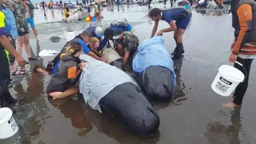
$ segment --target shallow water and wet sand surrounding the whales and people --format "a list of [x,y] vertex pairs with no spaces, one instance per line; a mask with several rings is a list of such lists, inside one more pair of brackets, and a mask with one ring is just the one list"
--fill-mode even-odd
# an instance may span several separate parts
[[[162,4],[155,7],[163,8]],[[146,6],[119,6],[103,8],[105,18],[101,22],[52,23],[62,19],[61,11],[54,10],[54,18],[47,11],[47,20],[40,10],[35,10],[35,23],[41,39],[37,42],[31,32],[31,48],[37,55],[40,50],[60,50],[66,43],[67,28],[76,34],[90,24],[106,28],[118,18],[126,18],[134,33],[142,41],[150,37],[154,26],[147,15]],[[210,84],[217,74],[220,63],[228,61],[233,41],[231,15],[226,11],[195,11],[184,35],[185,54],[174,61],[177,75],[175,98],[169,102],[153,102],[161,124],[155,135],[135,136],[113,121],[108,115],[92,110],[81,96],[58,99],[50,103],[45,93],[51,75],[41,75],[26,65],[24,76],[12,76],[10,92],[26,99],[16,106],[14,115],[19,133],[0,144],[254,144],[256,141],[256,77],[252,64],[250,82],[242,108],[225,108],[221,104],[232,101],[211,90]],[[160,22],[159,30],[168,24]],[[52,36],[61,37],[53,43]],[[164,33],[169,53],[175,48],[173,33]],[[23,51],[23,56],[27,55]],[[54,57],[39,61],[47,65]],[[225,64],[230,64],[226,62]],[[230,64],[231,65],[231,64]],[[20,136],[20,137],[19,137]]]

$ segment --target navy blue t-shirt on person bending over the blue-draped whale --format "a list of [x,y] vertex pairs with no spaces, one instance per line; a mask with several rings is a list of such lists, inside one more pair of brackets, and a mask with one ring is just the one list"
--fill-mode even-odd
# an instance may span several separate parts
[[164,10],[162,14],[162,20],[170,23],[171,21],[176,21],[180,16],[180,13],[184,11],[184,8],[171,8],[168,10]]

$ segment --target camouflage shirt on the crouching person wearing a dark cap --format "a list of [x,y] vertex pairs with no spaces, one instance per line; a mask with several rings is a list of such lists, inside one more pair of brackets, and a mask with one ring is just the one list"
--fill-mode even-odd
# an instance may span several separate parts
[[119,43],[122,43],[124,45],[125,52],[137,50],[139,46],[139,38],[130,31],[124,31],[123,35],[124,35],[124,38],[122,40],[118,39],[118,41]]

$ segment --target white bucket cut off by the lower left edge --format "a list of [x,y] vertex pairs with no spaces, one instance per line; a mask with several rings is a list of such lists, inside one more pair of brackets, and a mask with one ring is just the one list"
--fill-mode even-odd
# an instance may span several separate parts
[[8,107],[0,108],[0,139],[13,136],[19,130],[12,110]]

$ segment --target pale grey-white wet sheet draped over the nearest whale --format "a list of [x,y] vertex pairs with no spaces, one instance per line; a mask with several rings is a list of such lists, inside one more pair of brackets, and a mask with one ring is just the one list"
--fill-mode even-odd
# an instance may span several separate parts
[[79,79],[80,93],[83,94],[85,102],[95,110],[101,112],[99,101],[117,85],[127,82],[136,84],[129,75],[119,68],[98,61],[86,54],[82,54],[79,58],[89,62]]

